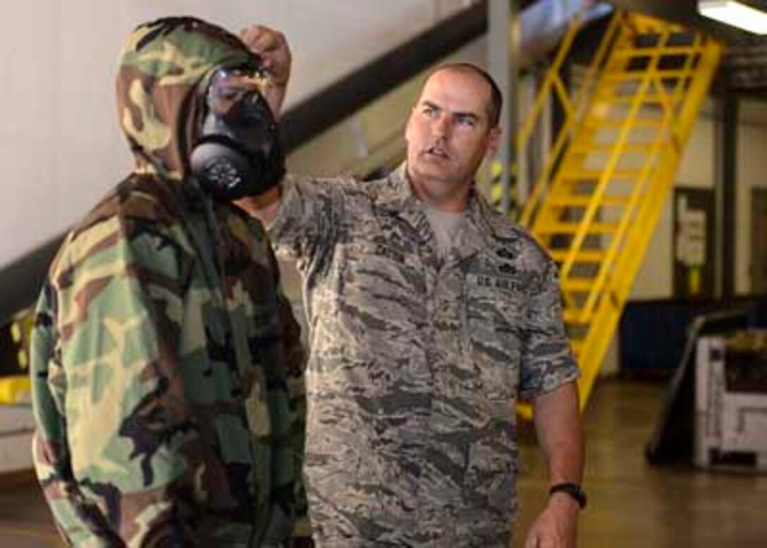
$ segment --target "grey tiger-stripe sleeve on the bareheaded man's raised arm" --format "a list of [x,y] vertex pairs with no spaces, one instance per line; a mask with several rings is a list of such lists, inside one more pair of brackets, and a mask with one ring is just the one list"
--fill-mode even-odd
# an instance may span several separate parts
[[340,179],[288,176],[269,238],[281,258],[302,259],[335,241],[342,196]]

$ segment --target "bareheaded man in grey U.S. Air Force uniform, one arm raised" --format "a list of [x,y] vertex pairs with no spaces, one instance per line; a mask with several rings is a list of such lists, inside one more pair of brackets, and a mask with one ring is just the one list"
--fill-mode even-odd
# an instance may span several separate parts
[[[281,34],[243,36],[287,78]],[[507,546],[519,398],[534,402],[551,484],[581,481],[578,369],[555,265],[473,185],[500,107],[483,71],[443,67],[391,176],[291,178],[243,202],[304,277],[318,546]],[[573,546],[574,499],[552,494],[525,546]]]

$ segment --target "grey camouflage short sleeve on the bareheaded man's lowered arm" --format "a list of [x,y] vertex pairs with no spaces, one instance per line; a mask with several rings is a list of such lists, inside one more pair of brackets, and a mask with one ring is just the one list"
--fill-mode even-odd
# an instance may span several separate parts
[[528,300],[522,340],[519,385],[522,399],[533,400],[578,378],[578,366],[562,321],[557,268],[550,260],[541,284]]

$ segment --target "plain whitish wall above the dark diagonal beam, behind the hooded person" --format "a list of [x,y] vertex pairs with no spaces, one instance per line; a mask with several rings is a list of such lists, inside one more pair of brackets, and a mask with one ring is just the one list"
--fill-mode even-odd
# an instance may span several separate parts
[[294,54],[286,107],[470,2],[29,0],[0,5],[0,267],[64,231],[127,173],[114,74],[124,37],[162,15],[280,28]]

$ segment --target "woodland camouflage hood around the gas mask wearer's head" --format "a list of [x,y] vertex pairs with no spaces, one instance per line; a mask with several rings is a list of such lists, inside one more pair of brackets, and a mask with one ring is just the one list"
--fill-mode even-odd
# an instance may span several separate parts
[[136,28],[120,59],[117,112],[137,172],[185,179],[204,116],[200,84],[221,67],[259,65],[234,34],[199,19],[163,18]]

